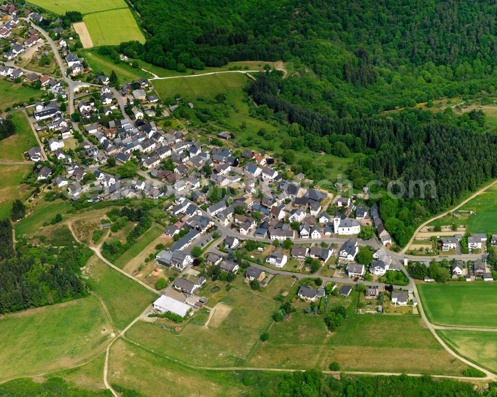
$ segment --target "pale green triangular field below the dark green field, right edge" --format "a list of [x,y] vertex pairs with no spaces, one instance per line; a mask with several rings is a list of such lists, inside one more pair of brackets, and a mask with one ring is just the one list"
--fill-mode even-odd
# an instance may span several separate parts
[[437,333],[460,355],[497,373],[495,332],[438,330]]

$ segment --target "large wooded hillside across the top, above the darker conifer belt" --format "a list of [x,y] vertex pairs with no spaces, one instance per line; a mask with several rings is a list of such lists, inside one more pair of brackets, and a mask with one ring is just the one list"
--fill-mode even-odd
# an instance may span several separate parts
[[293,61],[299,79],[286,79],[282,96],[331,116],[486,96],[496,86],[497,4],[490,0],[134,4],[153,37],[121,45],[127,55],[178,70]]

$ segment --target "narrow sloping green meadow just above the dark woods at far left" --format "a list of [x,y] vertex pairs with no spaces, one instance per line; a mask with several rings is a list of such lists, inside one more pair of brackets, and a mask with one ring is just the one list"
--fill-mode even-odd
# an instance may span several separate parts
[[16,222],[14,225],[15,236],[19,238],[22,235],[36,234],[43,226],[43,223],[50,222],[55,214],[62,214],[71,208],[71,203],[68,201],[53,201],[46,202],[38,200],[33,207],[33,212],[23,220]]

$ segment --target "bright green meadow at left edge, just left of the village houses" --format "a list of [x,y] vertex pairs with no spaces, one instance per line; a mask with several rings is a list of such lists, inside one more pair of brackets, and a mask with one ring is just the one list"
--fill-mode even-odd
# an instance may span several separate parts
[[23,153],[38,146],[38,141],[23,112],[15,112],[12,116],[15,135],[0,141],[0,160],[24,161]]

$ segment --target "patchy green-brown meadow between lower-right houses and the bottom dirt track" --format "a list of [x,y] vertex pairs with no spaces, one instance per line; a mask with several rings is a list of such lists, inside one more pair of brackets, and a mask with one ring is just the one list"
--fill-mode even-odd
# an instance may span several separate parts
[[308,304],[299,303],[300,313],[274,323],[268,341],[253,352],[248,364],[324,370],[337,361],[347,371],[429,374],[461,374],[466,368],[444,351],[419,316],[356,314],[356,299],[355,291],[348,298],[331,298],[328,307],[347,307],[344,324],[333,333],[324,316],[302,314]]

